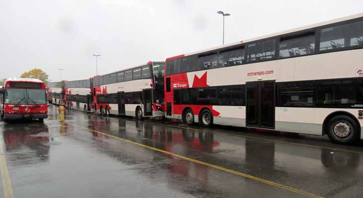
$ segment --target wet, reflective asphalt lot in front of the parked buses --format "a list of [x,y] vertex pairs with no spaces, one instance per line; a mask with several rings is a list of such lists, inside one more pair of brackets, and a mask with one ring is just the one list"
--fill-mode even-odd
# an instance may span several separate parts
[[44,123],[0,121],[15,198],[363,197],[362,145],[78,111],[65,119],[51,106]]

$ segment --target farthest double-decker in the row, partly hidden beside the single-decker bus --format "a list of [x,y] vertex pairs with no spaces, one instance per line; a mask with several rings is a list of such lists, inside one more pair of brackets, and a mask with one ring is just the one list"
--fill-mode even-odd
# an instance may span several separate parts
[[52,103],[56,105],[65,105],[65,87],[66,81],[54,81],[48,82],[48,93],[49,97],[52,98]]

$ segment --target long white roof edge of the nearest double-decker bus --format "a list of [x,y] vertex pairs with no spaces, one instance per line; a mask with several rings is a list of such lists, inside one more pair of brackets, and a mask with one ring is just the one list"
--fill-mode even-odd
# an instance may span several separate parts
[[[260,40],[260,39],[264,39],[264,38],[269,38],[269,37],[274,37],[274,36],[278,36],[278,35],[298,32],[298,31],[302,31],[302,30],[305,30],[305,29],[310,29],[310,28],[314,28],[314,27],[318,27],[318,26],[328,25],[328,24],[331,24],[331,23],[337,23],[337,22],[346,21],[346,20],[350,20],[350,19],[354,19],[354,18],[360,18],[360,17],[363,17],[363,12],[358,13],[358,14],[345,16],[345,17],[332,19],[332,20],[328,20],[328,21],[324,21],[324,22],[314,23],[314,24],[311,24],[311,25],[306,25],[306,26],[303,26],[303,27],[294,28],[294,29],[290,29],[290,30],[286,30],[286,31],[282,31],[282,32],[272,33],[272,34],[268,34],[268,35],[265,35],[265,36],[255,37],[255,38],[243,40],[243,41],[240,41],[240,42],[229,43],[229,44],[226,44],[226,45],[217,46],[217,47],[209,48],[209,49],[206,49],[206,50],[200,50],[200,51],[196,51],[196,52],[193,52],[193,53],[185,54],[184,56],[199,54],[199,53],[203,53],[203,52],[209,52],[209,51],[213,51],[213,50],[217,50],[217,49],[221,49],[221,48],[225,48],[225,47],[235,46],[235,45],[242,44],[242,43],[247,43],[247,42],[256,41],[256,40]],[[173,59],[173,58],[175,58],[175,57],[171,57],[169,59]]]

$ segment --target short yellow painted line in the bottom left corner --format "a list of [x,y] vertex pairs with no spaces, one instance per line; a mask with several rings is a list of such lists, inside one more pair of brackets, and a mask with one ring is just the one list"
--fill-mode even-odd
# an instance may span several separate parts
[[2,188],[4,191],[4,198],[14,198],[9,172],[7,171],[5,153],[2,147],[3,140],[4,137],[2,136],[2,132],[0,132],[0,169],[1,169]]

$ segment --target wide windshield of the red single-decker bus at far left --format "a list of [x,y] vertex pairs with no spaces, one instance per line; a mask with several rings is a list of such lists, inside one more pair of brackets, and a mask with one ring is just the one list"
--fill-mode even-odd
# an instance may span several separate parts
[[46,104],[45,90],[6,89],[5,104]]

